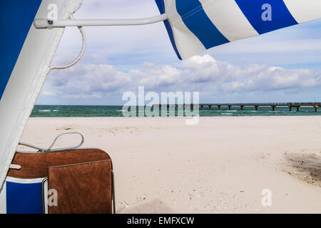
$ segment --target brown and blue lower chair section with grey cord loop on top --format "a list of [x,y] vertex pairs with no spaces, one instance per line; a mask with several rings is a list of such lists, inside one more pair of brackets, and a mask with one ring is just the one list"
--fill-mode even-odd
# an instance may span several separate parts
[[[66,133],[64,133],[66,134]],[[61,135],[58,135],[57,138]],[[17,151],[6,178],[7,213],[115,213],[111,157],[96,148]]]

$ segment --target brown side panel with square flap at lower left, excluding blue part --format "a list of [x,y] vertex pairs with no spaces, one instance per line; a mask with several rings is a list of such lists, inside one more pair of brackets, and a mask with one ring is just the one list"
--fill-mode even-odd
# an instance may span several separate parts
[[48,177],[48,189],[58,196],[57,205],[49,205],[51,214],[113,212],[113,165],[103,150],[16,152],[12,164],[21,169],[9,170],[9,177]]

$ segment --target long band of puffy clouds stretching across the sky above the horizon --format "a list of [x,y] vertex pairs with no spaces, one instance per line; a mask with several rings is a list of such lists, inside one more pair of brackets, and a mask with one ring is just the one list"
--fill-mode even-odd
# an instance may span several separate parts
[[302,88],[321,88],[321,73],[309,69],[285,69],[277,66],[233,66],[216,61],[210,55],[194,56],[170,65],[143,63],[141,68],[118,71],[103,63],[78,63],[49,75],[41,96],[60,98],[104,98],[125,91],[146,90],[200,91],[212,94],[255,93]]

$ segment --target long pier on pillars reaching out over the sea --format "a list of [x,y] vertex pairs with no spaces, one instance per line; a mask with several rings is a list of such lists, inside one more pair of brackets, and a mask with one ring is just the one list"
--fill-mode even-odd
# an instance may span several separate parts
[[[274,111],[275,107],[288,107],[289,111],[292,111],[292,108],[296,108],[297,112],[300,111],[300,107],[313,107],[315,108],[315,112],[317,112],[317,108],[321,107],[321,103],[200,103],[200,104],[184,104],[184,106],[191,106],[192,108],[198,105],[200,108],[204,108],[205,106],[208,106],[208,108],[212,108],[212,106],[217,107],[220,109],[221,107],[228,107],[230,110],[233,106],[240,107],[240,110],[243,110],[244,107],[253,107],[255,110],[258,110],[259,107],[271,107],[271,109]],[[156,105],[153,105],[156,106]],[[157,105],[158,107],[162,107],[163,105]],[[178,107],[182,105],[165,105],[167,108],[170,107]]]

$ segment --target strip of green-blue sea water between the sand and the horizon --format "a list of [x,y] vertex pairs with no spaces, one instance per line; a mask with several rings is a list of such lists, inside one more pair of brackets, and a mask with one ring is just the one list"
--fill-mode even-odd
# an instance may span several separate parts
[[[32,110],[32,117],[123,117],[123,106],[116,105],[35,105]],[[167,109],[168,113],[168,109]],[[142,113],[140,113],[142,114]],[[175,112],[177,115],[177,110]],[[321,108],[315,113],[312,107],[301,107],[297,112],[296,108],[292,108],[290,112],[287,107],[276,107],[272,111],[270,107],[244,107],[240,110],[238,106],[221,107],[220,110],[215,106],[208,108],[205,106],[200,108],[200,116],[255,116],[255,115],[321,115]],[[138,112],[137,112],[138,116]],[[143,116],[143,115],[142,115]]]

